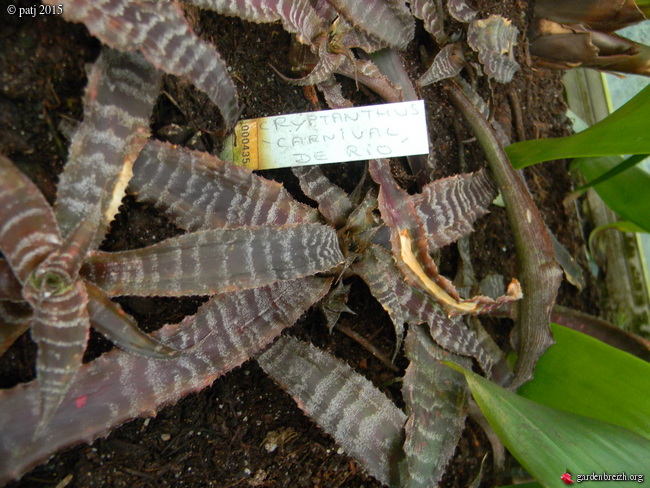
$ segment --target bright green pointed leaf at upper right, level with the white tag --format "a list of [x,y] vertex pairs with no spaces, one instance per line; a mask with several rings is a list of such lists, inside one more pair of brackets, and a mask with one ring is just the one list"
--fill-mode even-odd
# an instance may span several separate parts
[[518,142],[506,148],[512,165],[525,168],[553,159],[650,153],[647,114],[650,86],[589,129],[567,137]]

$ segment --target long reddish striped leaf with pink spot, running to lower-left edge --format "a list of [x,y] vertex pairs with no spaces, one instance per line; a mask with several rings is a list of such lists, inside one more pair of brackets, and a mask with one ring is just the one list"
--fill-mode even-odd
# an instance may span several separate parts
[[217,295],[195,316],[156,333],[164,343],[185,350],[181,356],[152,361],[114,350],[83,365],[36,443],[31,439],[39,380],[0,391],[0,484],[62,447],[91,442],[129,419],[154,415],[209,386],[292,325],[330,285],[331,280],[307,277]]

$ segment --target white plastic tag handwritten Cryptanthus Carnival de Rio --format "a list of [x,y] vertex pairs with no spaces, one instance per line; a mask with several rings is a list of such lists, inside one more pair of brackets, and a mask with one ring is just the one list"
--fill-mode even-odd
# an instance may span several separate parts
[[249,169],[428,154],[424,101],[242,120],[221,159]]

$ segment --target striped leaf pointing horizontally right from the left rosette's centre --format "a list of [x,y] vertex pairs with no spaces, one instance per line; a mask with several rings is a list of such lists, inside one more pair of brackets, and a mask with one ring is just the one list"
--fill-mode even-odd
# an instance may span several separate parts
[[344,261],[334,229],[214,229],[144,249],[93,253],[83,275],[111,296],[213,295],[326,271]]

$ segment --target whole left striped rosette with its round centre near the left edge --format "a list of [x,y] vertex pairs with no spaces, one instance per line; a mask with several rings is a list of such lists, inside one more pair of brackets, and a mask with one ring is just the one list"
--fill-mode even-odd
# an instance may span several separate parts
[[[91,323],[130,352],[158,359],[180,355],[140,332],[107,293],[214,295],[313,275],[343,261],[335,232],[308,218],[303,224],[299,212],[279,227],[195,232],[137,251],[94,252],[147,142],[155,100],[150,87],[159,78],[140,55],[106,50],[100,56],[89,75],[86,117],[72,140],[55,210],[2,159],[0,195],[6,211],[0,221],[0,249],[6,261],[0,281],[9,326],[2,328],[1,344],[3,352],[28,327],[37,343],[36,437],[48,429],[75,381]],[[280,227],[284,237],[279,237]],[[303,249],[302,258],[288,252],[293,246]],[[241,247],[254,258],[241,259]],[[303,258],[307,268],[300,264]],[[123,286],[126,281],[116,286],[111,281],[116,276],[131,276],[130,287]],[[21,301],[30,305],[31,313],[16,304]]]

